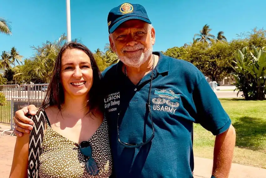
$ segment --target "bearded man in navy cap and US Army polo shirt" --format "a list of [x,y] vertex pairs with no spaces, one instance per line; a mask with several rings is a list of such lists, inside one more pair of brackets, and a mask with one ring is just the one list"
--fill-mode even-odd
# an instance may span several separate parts
[[[195,122],[216,135],[212,177],[228,177],[235,130],[204,75],[189,62],[152,52],[155,29],[143,6],[121,4],[107,23],[120,59],[102,79],[115,176],[193,177]],[[24,114],[35,110],[16,112],[17,135],[33,124]]]

